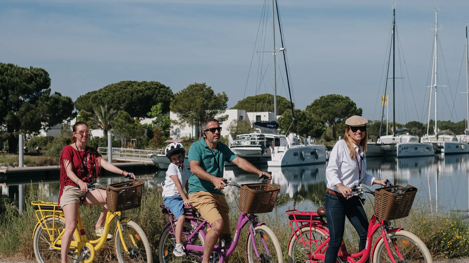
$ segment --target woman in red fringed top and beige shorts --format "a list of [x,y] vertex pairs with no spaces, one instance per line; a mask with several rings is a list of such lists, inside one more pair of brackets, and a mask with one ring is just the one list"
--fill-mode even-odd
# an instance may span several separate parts
[[[106,191],[102,189],[88,191],[88,183],[96,182],[101,167],[116,174],[124,176],[128,174],[102,159],[96,149],[86,146],[89,134],[88,125],[84,122],[77,122],[73,125],[72,144],[63,147],[61,153],[59,205],[61,205],[65,216],[65,233],[62,236],[61,251],[62,263],[67,263],[68,247],[76,229],[81,197],[84,197],[83,204],[85,205],[106,203]],[[135,179],[134,174],[131,176]],[[104,205],[91,235],[103,235],[106,213],[107,206]],[[107,234],[107,238],[112,238],[112,235]]]

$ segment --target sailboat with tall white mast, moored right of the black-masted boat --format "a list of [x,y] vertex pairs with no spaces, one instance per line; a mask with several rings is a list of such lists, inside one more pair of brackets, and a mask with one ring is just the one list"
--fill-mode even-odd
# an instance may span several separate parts
[[[433,50],[433,65],[431,67],[431,85],[428,88],[435,87],[435,127],[433,128],[433,135],[429,135],[430,129],[430,110],[431,110],[431,95],[432,91],[430,90],[430,99],[428,103],[428,122],[427,122],[427,134],[420,138],[422,143],[431,143],[439,151],[445,154],[451,153],[469,153],[469,144],[460,142],[456,136],[444,134],[444,131],[438,130],[438,104],[437,104],[437,94],[438,87],[445,87],[438,85],[437,77],[438,74],[438,10],[435,9],[435,40],[434,40],[434,50]],[[441,29],[441,28],[440,28]],[[467,49],[466,49],[467,50]],[[466,59],[467,63],[467,59]],[[467,70],[466,70],[467,71]]]

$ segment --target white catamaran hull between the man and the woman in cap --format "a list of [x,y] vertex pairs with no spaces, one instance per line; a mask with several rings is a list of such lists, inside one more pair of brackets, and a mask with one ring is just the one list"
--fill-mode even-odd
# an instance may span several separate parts
[[294,165],[311,165],[325,162],[324,145],[294,146],[284,152],[272,154],[272,160],[267,161],[269,167],[284,167]]

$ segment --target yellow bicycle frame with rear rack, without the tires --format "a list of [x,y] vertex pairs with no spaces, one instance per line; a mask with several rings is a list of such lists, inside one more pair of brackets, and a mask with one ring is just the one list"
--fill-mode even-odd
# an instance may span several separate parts
[[[49,241],[51,241],[51,247],[57,250],[61,250],[61,243],[62,243],[62,236],[65,232],[65,228],[62,229],[62,231],[59,233],[56,239],[54,239],[54,232],[58,231],[56,227],[54,226],[55,221],[52,223],[52,228],[49,228],[47,225],[43,224],[45,219],[47,218],[59,218],[65,221],[65,216],[61,210],[58,210],[58,204],[57,203],[46,203],[42,201],[34,201],[31,202],[32,205],[37,205],[38,210],[36,211],[36,218],[38,219],[38,224],[36,225],[35,229],[40,225],[42,229],[46,230],[47,233],[49,234]],[[52,212],[52,214],[50,213]],[[70,242],[70,248],[75,248],[75,253],[80,254],[80,249],[83,246],[88,246],[90,249],[94,251],[98,251],[101,249],[104,244],[106,243],[107,240],[107,234],[109,233],[109,228],[111,225],[111,222],[113,221],[114,218],[118,218],[117,220],[117,226],[116,228],[118,229],[120,238],[121,238],[121,244],[124,247],[124,250],[129,253],[128,248],[125,245],[125,242],[123,240],[123,234],[122,234],[122,222],[128,222],[130,219],[124,218],[122,216],[121,212],[110,212],[108,211],[106,214],[106,221],[105,221],[105,233],[98,239],[96,240],[88,240],[88,237],[86,236],[84,226],[83,226],[83,221],[80,216],[80,212],[78,212],[77,219],[78,219],[78,229],[75,229],[75,237],[76,241],[71,241]],[[34,236],[33,236],[34,237]],[[131,237],[132,238],[132,237]],[[135,244],[135,241],[132,239],[132,242]],[[94,257],[94,253],[93,257]],[[92,260],[92,258],[91,258]]]

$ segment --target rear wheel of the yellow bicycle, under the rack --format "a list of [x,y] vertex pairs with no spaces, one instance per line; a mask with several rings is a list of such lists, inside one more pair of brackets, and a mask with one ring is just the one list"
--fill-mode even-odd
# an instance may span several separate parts
[[[54,225],[53,239],[55,240],[62,230],[65,228],[65,221],[58,217],[49,217],[41,222],[43,226],[52,231],[52,224]],[[44,225],[45,224],[45,225]],[[34,231],[33,237],[33,248],[36,261],[38,263],[60,263],[61,262],[61,251],[57,249],[49,249],[52,247],[50,236],[46,229],[43,229],[40,225]],[[76,241],[75,234],[72,235],[72,240]],[[68,253],[68,257],[77,258],[77,255]]]

